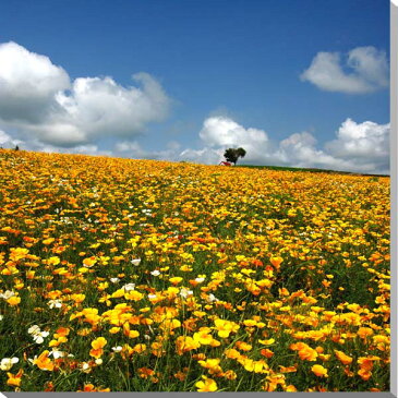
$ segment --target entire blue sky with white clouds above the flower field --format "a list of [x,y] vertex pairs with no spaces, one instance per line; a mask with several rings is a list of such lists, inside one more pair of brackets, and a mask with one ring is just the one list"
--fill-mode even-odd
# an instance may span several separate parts
[[3,1],[0,146],[389,172],[388,0]]

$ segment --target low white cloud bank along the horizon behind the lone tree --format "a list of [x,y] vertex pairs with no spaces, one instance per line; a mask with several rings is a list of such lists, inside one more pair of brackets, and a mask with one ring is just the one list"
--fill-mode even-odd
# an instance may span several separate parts
[[389,124],[347,119],[336,132],[336,140],[319,148],[309,132],[291,134],[278,143],[263,130],[245,129],[226,117],[212,117],[204,121],[200,137],[203,148],[186,148],[178,158],[215,165],[222,160],[227,147],[242,146],[246,149],[240,160],[243,164],[389,172]]

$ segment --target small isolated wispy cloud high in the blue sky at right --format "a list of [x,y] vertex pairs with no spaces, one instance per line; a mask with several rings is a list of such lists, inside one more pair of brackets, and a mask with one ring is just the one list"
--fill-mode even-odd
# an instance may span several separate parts
[[352,49],[343,62],[339,52],[318,52],[300,77],[328,92],[363,94],[388,87],[388,74],[386,52],[369,46]]

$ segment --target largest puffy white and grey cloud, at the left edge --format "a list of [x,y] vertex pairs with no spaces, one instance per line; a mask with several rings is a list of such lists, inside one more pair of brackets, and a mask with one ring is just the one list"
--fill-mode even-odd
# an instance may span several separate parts
[[79,77],[15,43],[0,45],[0,123],[27,141],[74,147],[106,135],[132,137],[167,117],[170,99],[147,73],[124,87],[112,77]]

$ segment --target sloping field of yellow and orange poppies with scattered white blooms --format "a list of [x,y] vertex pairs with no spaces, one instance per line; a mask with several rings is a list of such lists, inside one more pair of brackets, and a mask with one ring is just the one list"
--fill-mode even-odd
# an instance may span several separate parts
[[389,390],[389,179],[0,150],[0,390]]

